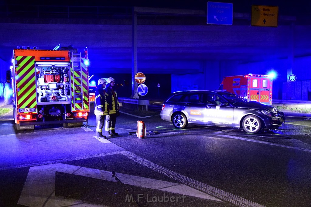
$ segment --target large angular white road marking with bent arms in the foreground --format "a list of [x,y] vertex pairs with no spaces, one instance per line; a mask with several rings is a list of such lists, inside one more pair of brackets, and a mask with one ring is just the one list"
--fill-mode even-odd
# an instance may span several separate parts
[[[18,204],[26,206],[85,206],[86,203],[83,201],[65,199],[55,196],[55,172],[70,173],[110,182],[117,182],[117,180],[112,177],[112,172],[99,169],[91,169],[61,163],[31,167],[29,169],[23,191],[21,192],[21,196],[18,200]],[[185,196],[194,196],[203,199],[221,201],[217,198],[214,198],[213,196],[207,195],[184,184],[144,178],[123,173],[115,173],[115,175],[123,184],[178,193]],[[99,205],[87,204],[87,206]]]

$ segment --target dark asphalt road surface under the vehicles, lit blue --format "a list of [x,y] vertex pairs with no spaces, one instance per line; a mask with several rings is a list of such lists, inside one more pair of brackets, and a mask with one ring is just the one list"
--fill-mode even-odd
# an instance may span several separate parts
[[94,115],[88,128],[16,132],[9,114],[0,119],[0,206],[310,206],[311,116],[285,115],[280,129],[250,135],[122,113],[121,136],[100,140]]

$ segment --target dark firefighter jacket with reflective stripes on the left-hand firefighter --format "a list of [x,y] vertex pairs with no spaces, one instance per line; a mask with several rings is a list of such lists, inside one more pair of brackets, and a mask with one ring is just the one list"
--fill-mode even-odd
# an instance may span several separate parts
[[95,115],[108,115],[106,92],[102,85],[98,85],[95,90]]

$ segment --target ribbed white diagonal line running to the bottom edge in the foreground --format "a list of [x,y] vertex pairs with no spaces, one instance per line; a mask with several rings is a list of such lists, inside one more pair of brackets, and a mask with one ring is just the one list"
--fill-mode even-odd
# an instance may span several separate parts
[[238,206],[249,206],[249,207],[263,207],[263,205],[255,203],[253,201],[247,200],[245,198],[236,196],[234,194],[231,194],[229,192],[220,190],[216,187],[212,187],[210,185],[207,185],[205,183],[196,181],[192,178],[188,178],[186,176],[183,176],[182,174],[176,173],[174,171],[171,171],[169,169],[166,169],[158,164],[155,164],[153,162],[150,162],[149,160],[146,160],[142,157],[139,157],[138,155],[133,154],[132,152],[129,151],[124,151],[122,153],[123,155],[127,156],[131,160],[142,164],[143,166],[153,169],[154,171],[161,173],[169,178],[172,178],[174,180],[177,180],[179,182],[182,182],[186,184],[187,186],[193,187],[199,191],[203,191],[207,193],[208,195],[214,196],[216,198],[226,200],[230,203],[233,203]]

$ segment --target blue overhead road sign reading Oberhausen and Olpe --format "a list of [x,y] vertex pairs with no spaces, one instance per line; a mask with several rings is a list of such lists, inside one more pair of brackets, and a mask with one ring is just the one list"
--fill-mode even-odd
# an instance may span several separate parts
[[233,4],[207,2],[207,24],[232,25]]

